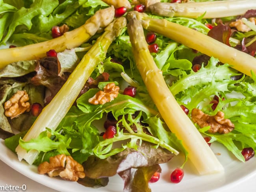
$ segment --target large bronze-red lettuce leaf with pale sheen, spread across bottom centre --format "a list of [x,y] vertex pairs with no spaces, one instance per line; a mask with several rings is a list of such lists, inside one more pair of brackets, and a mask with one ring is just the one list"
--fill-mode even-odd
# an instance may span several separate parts
[[130,168],[148,167],[170,161],[173,153],[163,150],[148,142],[142,142],[138,150],[126,148],[124,151],[99,159],[90,156],[83,163],[85,175],[97,179],[101,177],[111,177]]

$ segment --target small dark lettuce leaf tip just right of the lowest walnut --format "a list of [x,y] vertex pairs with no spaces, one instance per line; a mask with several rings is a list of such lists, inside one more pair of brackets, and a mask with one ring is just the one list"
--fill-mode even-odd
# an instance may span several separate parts
[[83,179],[78,179],[78,183],[80,183],[83,186],[98,188],[101,186],[107,186],[108,185],[109,178],[108,177],[102,177],[99,179],[91,179],[90,177],[84,177]]

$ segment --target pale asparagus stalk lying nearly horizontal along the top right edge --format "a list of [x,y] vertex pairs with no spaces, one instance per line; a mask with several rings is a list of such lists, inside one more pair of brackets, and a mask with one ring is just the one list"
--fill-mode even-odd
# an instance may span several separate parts
[[219,0],[188,3],[156,3],[148,7],[152,13],[167,17],[203,18],[243,15],[249,9],[256,9],[254,0]]

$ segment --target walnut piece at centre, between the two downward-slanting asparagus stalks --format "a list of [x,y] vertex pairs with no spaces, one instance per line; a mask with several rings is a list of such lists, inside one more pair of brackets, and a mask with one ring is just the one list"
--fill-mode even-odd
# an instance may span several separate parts
[[108,83],[104,87],[104,91],[100,90],[95,94],[95,96],[89,99],[89,103],[98,105],[111,102],[118,96],[118,91],[119,87],[115,86],[115,83]]

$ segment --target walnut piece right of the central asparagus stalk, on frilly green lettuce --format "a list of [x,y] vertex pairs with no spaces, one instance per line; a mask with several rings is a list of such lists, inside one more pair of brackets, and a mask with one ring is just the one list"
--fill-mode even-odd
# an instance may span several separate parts
[[210,116],[195,108],[191,111],[191,117],[201,128],[210,126],[210,133],[219,132],[225,134],[232,131],[235,127],[229,119],[224,119],[224,113],[221,111],[214,116]]

